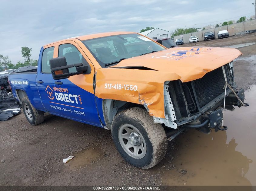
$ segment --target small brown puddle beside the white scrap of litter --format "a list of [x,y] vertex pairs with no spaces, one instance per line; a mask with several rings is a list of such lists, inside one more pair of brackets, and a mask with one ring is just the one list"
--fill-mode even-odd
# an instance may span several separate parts
[[100,152],[98,147],[92,147],[74,155],[75,157],[71,161],[64,164],[65,168],[76,170],[95,163],[100,156]]

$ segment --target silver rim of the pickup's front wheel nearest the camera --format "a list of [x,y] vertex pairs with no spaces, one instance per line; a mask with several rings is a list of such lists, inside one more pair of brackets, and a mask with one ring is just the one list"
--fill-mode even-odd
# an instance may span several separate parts
[[147,145],[139,130],[131,124],[123,124],[118,130],[118,139],[124,151],[132,158],[146,155]]

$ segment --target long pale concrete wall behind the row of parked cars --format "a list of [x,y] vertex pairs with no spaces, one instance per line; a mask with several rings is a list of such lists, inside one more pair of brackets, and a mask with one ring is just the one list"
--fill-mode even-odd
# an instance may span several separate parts
[[[214,32],[215,38],[218,38],[218,33],[221,30],[228,30],[230,36],[234,35],[235,33],[245,31],[245,30],[256,30],[256,19],[251,20],[251,21],[244,21],[241,23],[224,25],[221,27],[215,27],[212,29],[197,31],[194,33],[183,34],[183,41],[184,41],[184,43],[189,43],[189,37],[194,36],[194,35],[198,36],[199,41],[202,41],[204,33],[210,32],[210,31]],[[180,35],[174,36],[174,42],[176,39],[179,39],[179,38],[181,38]]]

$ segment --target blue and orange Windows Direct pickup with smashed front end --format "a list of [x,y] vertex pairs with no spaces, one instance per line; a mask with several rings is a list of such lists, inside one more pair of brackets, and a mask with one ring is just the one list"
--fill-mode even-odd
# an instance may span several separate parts
[[43,46],[37,71],[10,74],[9,81],[32,125],[49,112],[109,129],[121,156],[146,169],[184,129],[225,130],[221,108],[248,105],[234,82],[239,55],[231,48],[167,49],[133,32],[100,33]]

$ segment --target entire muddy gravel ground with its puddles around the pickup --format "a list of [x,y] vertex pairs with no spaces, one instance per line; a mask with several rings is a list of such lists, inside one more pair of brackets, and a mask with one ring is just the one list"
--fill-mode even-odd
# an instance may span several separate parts
[[[182,46],[252,42],[256,33]],[[158,165],[143,170],[121,158],[108,130],[52,115],[31,126],[21,113],[0,122],[0,185],[256,185],[256,44],[238,49],[235,81],[250,106],[225,112],[227,131],[182,133]],[[63,164],[69,155],[76,157]]]

